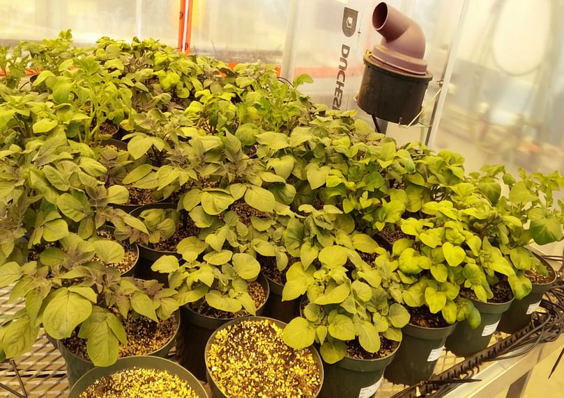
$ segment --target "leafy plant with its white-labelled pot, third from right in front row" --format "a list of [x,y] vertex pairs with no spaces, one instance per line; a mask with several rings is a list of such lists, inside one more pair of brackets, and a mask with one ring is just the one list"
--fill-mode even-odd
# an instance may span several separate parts
[[[405,222],[409,223],[409,219]],[[404,231],[411,232],[406,227]],[[468,318],[474,326],[480,322],[480,314],[472,303],[459,297],[459,284],[451,266],[444,264],[444,255],[435,250],[432,259],[422,254],[425,249],[418,251],[413,246],[412,239],[399,239],[392,246],[392,253],[379,255],[375,260],[379,269],[388,270],[390,279],[399,283],[388,290],[395,301],[406,305],[411,315],[409,324],[402,329],[402,345],[395,360],[386,367],[385,376],[394,383],[409,385],[432,375],[457,321]],[[418,246],[425,245],[419,241]]]

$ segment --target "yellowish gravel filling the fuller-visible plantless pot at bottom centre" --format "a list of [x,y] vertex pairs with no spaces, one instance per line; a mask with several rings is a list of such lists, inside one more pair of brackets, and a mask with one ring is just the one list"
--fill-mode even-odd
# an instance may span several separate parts
[[287,346],[282,328],[268,319],[218,331],[206,364],[227,397],[314,397],[321,384],[311,351]]

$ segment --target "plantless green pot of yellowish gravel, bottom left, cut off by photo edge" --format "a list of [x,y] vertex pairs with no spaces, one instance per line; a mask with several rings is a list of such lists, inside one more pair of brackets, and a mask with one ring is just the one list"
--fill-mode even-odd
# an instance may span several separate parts
[[121,358],[114,365],[95,367],[73,385],[68,396],[93,398],[110,392],[135,394],[136,397],[167,393],[174,393],[175,397],[208,397],[190,372],[171,360],[154,356]]

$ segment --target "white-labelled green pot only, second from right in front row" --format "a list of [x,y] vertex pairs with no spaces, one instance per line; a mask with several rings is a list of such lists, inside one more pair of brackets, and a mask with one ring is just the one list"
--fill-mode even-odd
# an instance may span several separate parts
[[445,344],[445,347],[456,356],[471,356],[485,349],[491,340],[491,335],[497,330],[501,315],[510,308],[513,302],[513,298],[505,303],[483,303],[471,300],[474,307],[480,312],[482,321],[475,329],[470,327],[468,321],[458,323]]

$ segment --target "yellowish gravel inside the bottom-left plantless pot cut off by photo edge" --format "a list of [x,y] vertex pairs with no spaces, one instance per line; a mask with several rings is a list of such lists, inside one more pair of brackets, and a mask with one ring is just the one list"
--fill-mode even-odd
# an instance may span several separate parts
[[104,376],[80,398],[197,398],[188,381],[166,370],[132,367]]

